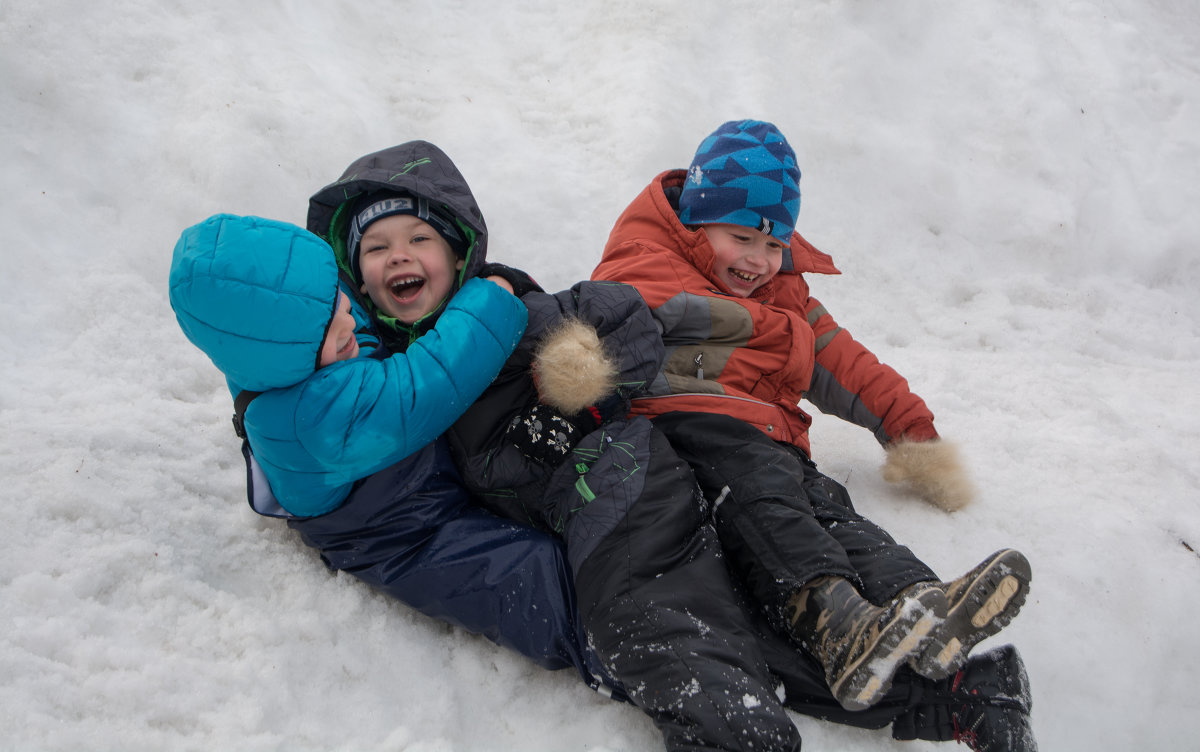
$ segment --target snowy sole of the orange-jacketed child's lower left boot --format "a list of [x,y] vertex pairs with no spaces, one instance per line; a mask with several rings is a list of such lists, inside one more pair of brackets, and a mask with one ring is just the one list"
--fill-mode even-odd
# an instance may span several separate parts
[[846,710],[865,710],[880,702],[888,690],[896,669],[908,658],[920,654],[932,637],[934,627],[942,621],[938,606],[944,607],[943,594],[935,589],[908,598],[896,609],[895,618],[880,631],[875,644],[846,667],[841,679],[830,685],[834,698]]

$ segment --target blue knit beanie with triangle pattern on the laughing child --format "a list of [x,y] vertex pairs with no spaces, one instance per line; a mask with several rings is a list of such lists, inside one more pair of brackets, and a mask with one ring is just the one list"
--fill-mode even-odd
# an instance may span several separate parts
[[739,224],[785,245],[800,212],[800,168],[779,128],[731,120],[706,138],[679,195],[684,224]]

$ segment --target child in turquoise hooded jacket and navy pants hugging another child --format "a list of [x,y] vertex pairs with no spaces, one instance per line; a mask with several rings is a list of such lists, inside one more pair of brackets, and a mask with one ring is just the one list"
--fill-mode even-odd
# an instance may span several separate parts
[[516,297],[468,279],[389,355],[329,245],[232,215],[182,233],[169,294],[240,408],[256,511],[331,568],[596,686],[559,547],[472,506],[440,438],[520,341]]

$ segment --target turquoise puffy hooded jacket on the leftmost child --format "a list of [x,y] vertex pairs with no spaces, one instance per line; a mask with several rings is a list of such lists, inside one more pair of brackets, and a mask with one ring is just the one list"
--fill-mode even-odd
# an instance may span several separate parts
[[469,279],[406,353],[364,349],[318,371],[337,293],[329,245],[283,222],[217,215],[186,229],[172,259],[184,333],[234,397],[263,392],[246,410],[247,439],[275,498],[299,517],[336,509],[355,481],[440,435],[496,378],[526,325],[516,297]]

